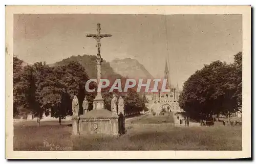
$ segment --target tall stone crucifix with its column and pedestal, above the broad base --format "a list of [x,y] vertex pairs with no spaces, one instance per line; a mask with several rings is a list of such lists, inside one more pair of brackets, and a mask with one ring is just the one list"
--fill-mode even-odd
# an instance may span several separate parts
[[[96,62],[97,62],[97,79],[98,79],[98,88],[101,88],[100,86],[100,78],[101,78],[101,62],[102,62],[102,58],[100,56],[100,39],[102,39],[103,37],[111,37],[112,35],[110,34],[100,34],[100,24],[97,24],[97,34],[88,34],[86,35],[87,37],[92,37],[97,41],[96,47],[98,48],[98,52],[97,52],[97,58],[96,58]],[[97,92],[97,96],[93,101],[93,109],[104,109],[104,100],[101,96],[101,91]]]

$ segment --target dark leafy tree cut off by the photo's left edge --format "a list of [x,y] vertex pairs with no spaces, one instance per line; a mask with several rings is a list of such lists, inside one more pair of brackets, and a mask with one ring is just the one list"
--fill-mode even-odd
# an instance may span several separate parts
[[23,61],[13,58],[13,106],[14,114],[27,115],[28,113],[40,113],[36,92],[40,79],[44,78],[42,63],[22,66]]

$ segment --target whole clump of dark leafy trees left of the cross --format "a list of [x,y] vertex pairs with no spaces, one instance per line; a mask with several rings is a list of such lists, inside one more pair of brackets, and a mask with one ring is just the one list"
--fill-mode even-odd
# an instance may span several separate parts
[[26,113],[19,114],[32,112],[41,117],[42,113],[51,109],[55,118],[62,119],[67,114],[72,114],[74,95],[78,96],[79,105],[82,106],[88,75],[81,64],[70,62],[49,67],[45,62],[36,62],[23,68],[22,60],[17,57],[13,60],[15,114],[24,111]]

